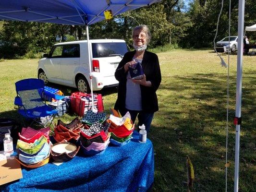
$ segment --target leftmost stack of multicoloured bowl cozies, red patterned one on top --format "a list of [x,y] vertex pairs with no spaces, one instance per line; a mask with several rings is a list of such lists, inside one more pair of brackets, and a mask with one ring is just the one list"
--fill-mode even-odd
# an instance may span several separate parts
[[22,128],[22,132],[18,133],[20,139],[16,146],[16,160],[27,168],[38,168],[47,164],[50,156],[49,132],[49,127],[40,130]]

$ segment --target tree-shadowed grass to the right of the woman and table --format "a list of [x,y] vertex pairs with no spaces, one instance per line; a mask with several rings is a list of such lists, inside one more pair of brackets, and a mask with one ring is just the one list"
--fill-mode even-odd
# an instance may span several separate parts
[[[254,191],[255,164],[255,85],[253,72],[244,73],[242,95],[242,128],[240,137],[240,192]],[[251,75],[251,76],[250,76]],[[166,77],[168,79],[168,77]],[[170,77],[169,77],[170,78]],[[235,79],[235,76],[231,76]],[[155,149],[155,184],[153,191],[185,192],[186,156],[195,167],[195,191],[223,191],[225,189],[226,146],[226,76],[195,74],[174,76],[161,84],[159,109],[153,121],[149,138]],[[167,81],[168,82],[168,81]],[[233,190],[236,84],[230,84],[228,191]],[[161,93],[161,92],[160,92]],[[185,93],[185,94],[184,94]],[[254,114],[254,115],[253,115]],[[253,117],[254,116],[254,117]]]

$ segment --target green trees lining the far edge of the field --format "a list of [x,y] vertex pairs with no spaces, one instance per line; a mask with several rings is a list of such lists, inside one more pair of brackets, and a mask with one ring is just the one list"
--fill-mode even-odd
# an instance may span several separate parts
[[[229,2],[224,1],[219,22],[217,40],[228,36]],[[149,48],[171,46],[183,48],[213,47],[216,23],[221,6],[220,0],[162,0],[116,16],[110,22],[93,24],[89,29],[91,39],[121,38],[132,45],[132,28],[148,25],[152,40]],[[244,27],[255,24],[256,4],[245,1]],[[231,4],[231,35],[237,35],[238,0]],[[86,39],[85,26],[24,23],[0,21],[0,58],[37,58],[48,52],[56,43],[56,36],[67,41]],[[246,32],[251,43],[256,41],[255,32]]]

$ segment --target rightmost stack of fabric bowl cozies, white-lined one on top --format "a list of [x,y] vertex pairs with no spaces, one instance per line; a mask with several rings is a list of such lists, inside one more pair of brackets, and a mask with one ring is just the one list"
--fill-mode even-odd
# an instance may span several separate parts
[[[119,113],[114,114],[116,115]],[[107,122],[110,123],[110,143],[117,146],[123,146],[128,144],[132,139],[134,124],[129,112],[127,112],[123,117],[115,115],[110,115],[110,118],[107,120]]]

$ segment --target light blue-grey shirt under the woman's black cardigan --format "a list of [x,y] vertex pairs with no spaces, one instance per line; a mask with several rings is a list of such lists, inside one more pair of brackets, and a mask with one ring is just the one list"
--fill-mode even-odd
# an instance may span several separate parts
[[[136,62],[141,64],[142,60],[134,59]],[[141,91],[140,85],[134,84],[131,80],[130,72],[126,76],[126,97],[125,97],[125,108],[129,110],[141,111]]]

